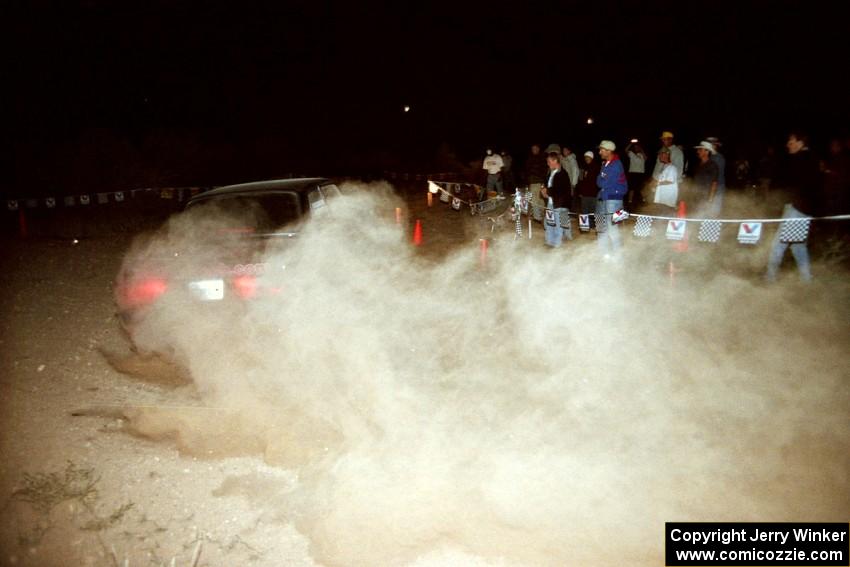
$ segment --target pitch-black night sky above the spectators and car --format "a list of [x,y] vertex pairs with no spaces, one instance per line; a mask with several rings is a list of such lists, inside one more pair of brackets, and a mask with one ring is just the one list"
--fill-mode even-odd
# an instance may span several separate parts
[[755,150],[850,124],[847,20],[825,3],[10,6],[7,187],[79,174],[81,146],[143,162],[180,147],[178,177],[218,174],[191,146],[240,178],[427,170],[441,143],[462,161],[532,142],[654,149],[666,129]]

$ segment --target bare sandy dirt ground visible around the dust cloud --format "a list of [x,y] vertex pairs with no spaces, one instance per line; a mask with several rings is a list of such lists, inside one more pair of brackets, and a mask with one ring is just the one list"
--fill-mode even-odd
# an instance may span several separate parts
[[[491,248],[513,240],[509,221],[491,233],[486,219],[436,198],[429,209],[423,192],[407,203],[402,222],[412,233],[422,220],[421,253],[434,262],[458,249],[480,261],[482,236]],[[534,231],[529,245],[542,246]],[[2,244],[0,565],[317,565],[308,538],[261,505],[297,471],[269,464],[250,440],[226,439],[224,426],[206,455],[175,429],[139,427],[156,412],[209,423],[216,410],[180,369],[128,351],[112,281],[133,236]],[[568,246],[593,242],[577,235]],[[720,261],[755,277],[763,259]]]

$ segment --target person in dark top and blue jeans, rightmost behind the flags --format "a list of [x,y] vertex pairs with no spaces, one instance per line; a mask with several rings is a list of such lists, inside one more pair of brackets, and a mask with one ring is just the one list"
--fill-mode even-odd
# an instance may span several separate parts
[[[788,191],[788,199],[782,211],[782,218],[806,218],[817,203],[818,189],[820,187],[820,171],[818,160],[809,150],[809,140],[805,134],[792,132],[788,136],[785,147],[788,149],[788,159],[780,171],[778,187]],[[783,225],[785,223],[782,223]],[[768,282],[776,281],[776,274],[782,264],[782,258],[788,246],[791,246],[791,254],[797,263],[800,277],[804,282],[812,280],[811,265],[809,260],[809,249],[806,241],[783,242],[783,230],[780,226],[773,240],[773,248],[767,263]]]

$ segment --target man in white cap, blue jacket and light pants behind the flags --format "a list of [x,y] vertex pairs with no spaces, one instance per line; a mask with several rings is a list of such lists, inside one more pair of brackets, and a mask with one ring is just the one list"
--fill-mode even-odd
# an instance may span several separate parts
[[623,198],[629,191],[623,162],[614,153],[617,146],[611,140],[602,140],[599,144],[599,156],[602,168],[596,176],[596,234],[599,250],[604,258],[620,250],[620,227],[612,221],[612,215],[623,208]]

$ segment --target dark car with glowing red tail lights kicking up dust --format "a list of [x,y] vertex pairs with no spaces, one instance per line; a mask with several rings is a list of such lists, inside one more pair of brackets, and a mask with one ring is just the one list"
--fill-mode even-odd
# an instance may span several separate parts
[[304,222],[329,211],[340,195],[331,180],[314,177],[229,185],[194,196],[182,218],[172,219],[179,236],[155,238],[125,258],[115,284],[122,326],[132,337],[166,300],[214,304],[276,293],[261,278],[266,245],[297,237]]

